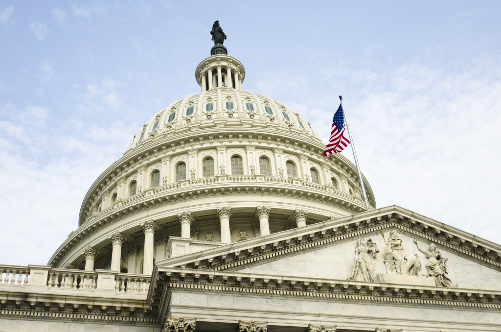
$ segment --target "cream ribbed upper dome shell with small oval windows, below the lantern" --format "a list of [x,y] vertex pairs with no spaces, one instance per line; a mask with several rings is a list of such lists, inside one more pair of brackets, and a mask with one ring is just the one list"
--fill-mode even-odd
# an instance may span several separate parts
[[[251,122],[249,122],[251,120]],[[146,122],[127,147],[136,146],[188,127],[266,126],[278,124],[279,130],[295,131],[320,139],[310,123],[285,104],[262,94],[219,87],[174,101]]]

